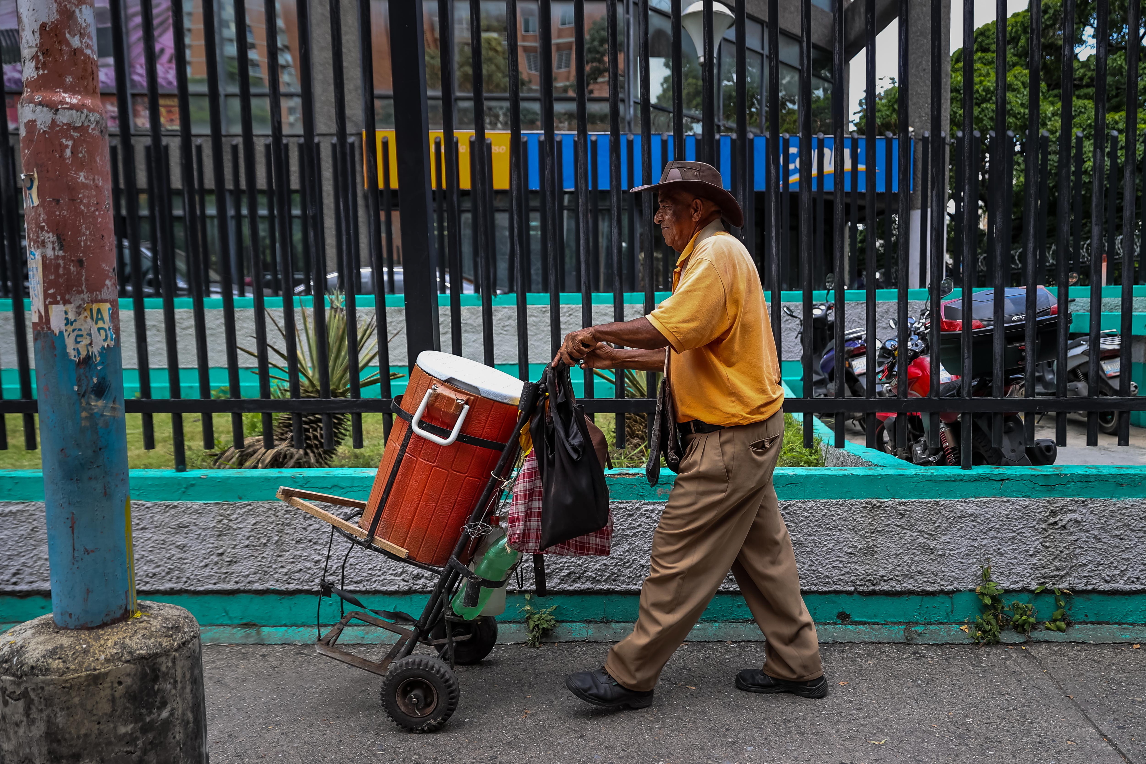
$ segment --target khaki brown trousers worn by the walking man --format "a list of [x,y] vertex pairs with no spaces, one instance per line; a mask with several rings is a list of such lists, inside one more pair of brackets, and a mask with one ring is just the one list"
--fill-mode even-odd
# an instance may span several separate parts
[[686,437],[681,473],[653,533],[636,626],[609,652],[605,670],[623,687],[652,689],[731,569],[767,639],[764,671],[794,681],[823,676],[772,488],[784,412]]

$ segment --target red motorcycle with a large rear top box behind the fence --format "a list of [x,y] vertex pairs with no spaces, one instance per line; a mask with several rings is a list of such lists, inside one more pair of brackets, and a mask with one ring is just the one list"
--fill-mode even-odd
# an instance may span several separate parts
[[[1045,288],[1039,289],[1038,312],[1042,318],[1037,326],[1041,329],[1038,338],[1044,340],[1043,335],[1049,322],[1042,319],[1054,314],[1049,310],[1050,306],[1047,305],[1047,302],[1053,303],[1053,297]],[[947,289],[947,291],[950,291],[950,289]],[[1013,307],[1023,304],[1025,294],[1018,293],[1025,293],[1025,289],[1012,288],[1007,289],[1006,293],[1006,303],[1012,309],[1012,312],[1004,320],[1004,332],[1007,335],[1014,335],[1017,334],[1017,327],[1021,330],[1025,315],[1014,312]],[[976,330],[973,335],[973,356],[982,357],[984,353],[983,344],[987,344],[987,352],[989,353],[990,351],[990,344],[987,341],[991,337],[991,333],[983,329],[987,329],[987,323],[991,321],[987,315],[988,309],[991,317],[994,315],[992,290],[976,293],[973,302],[972,319],[974,321],[973,327]],[[956,371],[961,371],[960,335],[963,326],[960,311],[961,301],[958,299],[948,301],[941,306],[941,364],[937,369],[940,374],[939,395],[941,398],[958,398],[963,391],[963,381],[958,374],[951,374],[944,368],[947,364],[951,364],[952,366],[957,364]],[[931,321],[932,317],[926,311],[919,317],[919,320],[912,321],[910,329],[912,334],[909,336],[906,346],[904,348],[901,348],[898,341],[895,338],[884,341],[884,349],[890,358],[879,369],[877,382],[884,387],[884,392],[887,397],[898,397],[900,380],[896,371],[901,362],[906,364],[908,398],[925,398],[931,395],[933,369],[929,348],[926,341],[929,336]],[[975,340],[979,342],[974,342]],[[1043,344],[1037,344],[1035,349],[1036,360],[1046,360],[1041,358],[1041,356],[1052,352],[1052,348],[1053,343],[1049,343],[1047,348],[1044,348]],[[1015,372],[1022,366],[1026,349],[1014,346],[1012,343],[1007,350],[1004,395],[1018,397],[1023,393],[1023,376]],[[979,368],[990,367],[989,362],[976,362],[975,365]],[[990,397],[994,387],[994,380],[989,374],[978,376],[971,382],[972,397]],[[900,443],[897,439],[900,429],[898,416],[905,418],[903,429],[905,430],[906,439],[903,443]],[[937,449],[928,445],[931,415],[924,416],[919,412],[896,415],[888,412],[877,414],[877,419],[880,424],[876,432],[876,441],[877,446],[881,450],[921,466],[957,466],[961,462],[963,421],[958,412],[940,412],[940,446]],[[994,414],[975,413],[971,416],[971,427],[973,428],[971,434],[973,465],[1029,466],[1054,463],[1058,457],[1058,449],[1054,445],[1054,441],[1037,438],[1028,444],[1026,427],[1023,427],[1022,419],[1018,412],[1006,412],[1003,414],[1003,437],[1000,445],[995,446],[991,443],[994,420]]]

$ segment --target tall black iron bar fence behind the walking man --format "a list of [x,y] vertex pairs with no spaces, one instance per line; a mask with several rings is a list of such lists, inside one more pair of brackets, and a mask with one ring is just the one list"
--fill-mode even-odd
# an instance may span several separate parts
[[[999,15],[994,46],[966,0],[952,57],[942,3],[919,32],[901,0],[894,91],[877,87],[874,0],[833,0],[823,39],[823,3],[801,0],[791,30],[778,0],[766,5],[755,18],[745,0],[108,0],[97,21],[133,335],[126,406],[142,414],[144,446],[155,416],[170,416],[182,469],[185,415],[202,418],[204,449],[217,447],[214,416],[229,416],[226,444],[242,450],[243,415],[259,414],[264,451],[314,434],[332,449],[335,416],[350,414],[362,447],[362,414],[385,414],[388,430],[390,377],[405,364],[395,333],[406,361],[440,348],[536,376],[573,325],[647,313],[669,288],[676,255],[653,200],[625,189],[674,158],[722,169],[777,344],[804,329],[802,396],[785,405],[803,413],[808,444],[824,414],[837,446],[854,422],[869,446],[970,467],[1005,452],[1015,422],[1030,446],[1047,412],[1063,445],[1067,413],[1084,412],[1088,445],[1100,428],[1125,445],[1130,413],[1146,410],[1130,373],[1146,297],[1135,290],[1146,283],[1140,0],[1116,13],[1033,3]],[[699,14],[696,42],[682,14]],[[854,39],[864,53],[849,63]],[[857,131],[849,65],[865,68]],[[1017,65],[1021,114],[1008,100]],[[981,81],[992,103],[963,85]],[[2,122],[0,413],[23,414],[33,449],[18,151]],[[411,134],[425,138],[418,150]],[[894,336],[880,340],[885,304]],[[580,314],[563,322],[563,305]],[[1104,345],[1105,321],[1121,343]],[[1068,374],[1080,337],[1089,352]],[[250,369],[257,384],[244,384]],[[617,415],[619,444],[626,414],[652,410],[651,375],[580,382],[588,411]],[[7,447],[2,418],[0,438]]]

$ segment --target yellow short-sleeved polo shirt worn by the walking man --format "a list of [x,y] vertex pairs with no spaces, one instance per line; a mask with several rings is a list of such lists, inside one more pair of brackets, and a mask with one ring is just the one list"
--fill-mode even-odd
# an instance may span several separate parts
[[647,319],[673,346],[668,371],[677,421],[751,424],[784,405],[756,266],[720,220],[681,252],[673,294]]

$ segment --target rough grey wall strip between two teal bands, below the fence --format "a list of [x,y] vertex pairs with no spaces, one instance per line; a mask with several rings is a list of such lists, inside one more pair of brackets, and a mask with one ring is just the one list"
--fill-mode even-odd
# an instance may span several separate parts
[[[609,558],[549,558],[558,592],[636,592],[662,504],[613,504]],[[785,501],[808,592],[966,591],[988,560],[1007,590],[1146,591],[1146,500],[965,499]],[[143,592],[314,591],[329,527],[277,501],[135,502],[135,576]],[[0,594],[48,590],[44,505],[0,504]],[[336,549],[345,549],[337,540]],[[15,552],[15,553],[13,553]],[[332,570],[342,555],[336,553]],[[528,575],[526,576],[528,580]],[[431,576],[356,549],[347,586],[423,592]],[[735,590],[729,577],[727,590]]]

